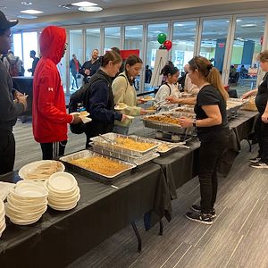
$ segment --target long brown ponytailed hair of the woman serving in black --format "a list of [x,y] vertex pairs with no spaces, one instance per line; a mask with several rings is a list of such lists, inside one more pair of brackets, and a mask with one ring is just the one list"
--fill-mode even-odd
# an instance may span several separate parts
[[193,57],[188,64],[191,71],[198,70],[208,83],[213,85],[214,88],[217,88],[225,101],[229,98],[228,92],[223,87],[220,71],[218,71],[208,59],[196,56]]

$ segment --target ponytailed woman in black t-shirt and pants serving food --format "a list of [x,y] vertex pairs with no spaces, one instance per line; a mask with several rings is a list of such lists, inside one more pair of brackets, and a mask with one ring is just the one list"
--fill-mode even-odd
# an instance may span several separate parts
[[222,153],[229,144],[229,125],[226,115],[228,93],[223,88],[220,72],[205,57],[194,57],[188,62],[188,76],[200,88],[197,98],[188,100],[168,97],[172,103],[195,105],[197,119],[180,118],[184,128],[197,127],[201,141],[199,171],[201,202],[192,205],[189,220],[212,224],[216,216],[214,203],[217,196],[217,166]]

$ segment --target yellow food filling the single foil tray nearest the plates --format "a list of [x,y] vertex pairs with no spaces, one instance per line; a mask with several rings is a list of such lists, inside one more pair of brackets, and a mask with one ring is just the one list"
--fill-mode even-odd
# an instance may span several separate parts
[[124,172],[129,168],[129,166],[124,163],[119,163],[117,161],[100,156],[90,156],[75,159],[72,160],[71,163],[79,166],[80,168],[111,177],[120,172]]

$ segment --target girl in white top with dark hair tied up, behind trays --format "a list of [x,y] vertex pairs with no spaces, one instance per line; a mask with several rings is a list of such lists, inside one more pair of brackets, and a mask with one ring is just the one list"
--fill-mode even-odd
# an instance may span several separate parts
[[166,80],[155,95],[155,103],[166,99],[168,96],[173,96],[175,98],[180,96],[179,88],[175,85],[180,74],[178,68],[174,67],[174,65],[167,64],[163,66],[161,73]]

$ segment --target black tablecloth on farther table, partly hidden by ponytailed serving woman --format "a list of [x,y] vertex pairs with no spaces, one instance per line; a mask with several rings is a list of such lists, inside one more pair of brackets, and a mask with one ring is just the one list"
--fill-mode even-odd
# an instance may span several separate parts
[[[239,143],[242,139],[247,138],[251,133],[255,123],[256,112],[239,111],[238,117],[230,120],[230,146],[222,156],[219,172],[227,175],[239,153]],[[190,149],[178,148],[178,151],[165,157],[156,158],[154,163],[161,165],[171,198],[177,197],[176,189],[186,183],[188,180],[197,176],[198,165],[198,140],[189,143]]]

